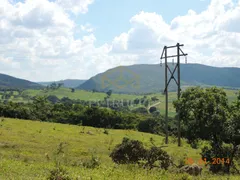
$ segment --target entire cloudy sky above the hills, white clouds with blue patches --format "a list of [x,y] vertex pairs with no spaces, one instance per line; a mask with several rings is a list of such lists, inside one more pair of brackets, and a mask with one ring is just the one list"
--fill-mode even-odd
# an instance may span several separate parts
[[240,0],[0,1],[0,73],[88,79],[177,42],[190,63],[240,67]]

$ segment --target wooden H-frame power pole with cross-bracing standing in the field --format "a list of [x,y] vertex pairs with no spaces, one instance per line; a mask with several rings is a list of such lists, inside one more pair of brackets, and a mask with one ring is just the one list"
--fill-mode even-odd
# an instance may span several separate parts
[[[165,112],[165,131],[166,131],[166,139],[165,139],[165,143],[168,144],[168,86],[171,82],[171,80],[173,79],[175,81],[175,83],[177,84],[178,87],[178,91],[177,91],[177,96],[178,96],[178,100],[180,98],[180,93],[181,93],[181,82],[180,82],[180,57],[181,56],[185,56],[185,63],[187,63],[187,55],[185,54],[182,49],[180,47],[184,46],[183,44],[179,44],[177,43],[177,45],[175,46],[164,46],[163,51],[162,51],[162,55],[161,55],[161,66],[162,66],[162,59],[165,59],[165,89],[164,89],[164,94],[166,97],[166,112]],[[168,49],[170,48],[177,48],[177,55],[171,55],[168,56]],[[177,57],[177,63],[174,67],[174,70],[172,71],[167,63],[168,58],[174,58]],[[172,61],[173,65],[174,65],[174,59]],[[177,79],[174,77],[174,73],[177,70]],[[168,72],[171,74],[170,78],[168,78]],[[178,146],[181,146],[181,124],[180,124],[180,109],[177,109],[177,121],[178,121]]]

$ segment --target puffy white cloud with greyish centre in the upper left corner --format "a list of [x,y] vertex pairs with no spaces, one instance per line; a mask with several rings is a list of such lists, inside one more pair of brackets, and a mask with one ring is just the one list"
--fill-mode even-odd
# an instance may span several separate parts
[[26,0],[14,5],[11,22],[27,28],[65,27],[72,28],[74,23],[61,7],[48,0]]

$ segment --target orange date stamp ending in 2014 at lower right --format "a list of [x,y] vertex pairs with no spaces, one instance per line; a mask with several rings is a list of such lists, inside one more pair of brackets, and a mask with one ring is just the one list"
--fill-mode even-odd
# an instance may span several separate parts
[[217,164],[230,164],[229,158],[212,158],[210,161],[207,161],[207,158],[199,159],[194,161],[193,158],[187,158],[185,163],[187,165],[198,164],[198,165],[217,165]]

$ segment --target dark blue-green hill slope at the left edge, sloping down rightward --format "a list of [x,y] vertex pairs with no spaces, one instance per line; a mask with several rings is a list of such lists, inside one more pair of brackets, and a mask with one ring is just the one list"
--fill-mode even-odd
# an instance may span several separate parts
[[42,85],[9,75],[0,74],[0,88],[39,89],[42,88]]

